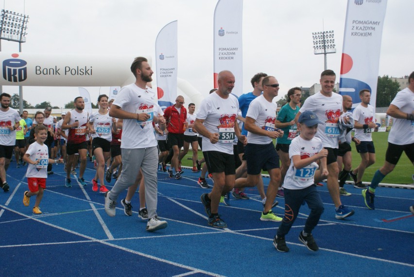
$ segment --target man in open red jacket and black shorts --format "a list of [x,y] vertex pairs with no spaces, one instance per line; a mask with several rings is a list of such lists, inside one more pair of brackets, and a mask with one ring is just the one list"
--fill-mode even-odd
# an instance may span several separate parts
[[[171,178],[175,177],[175,179],[180,179],[181,174],[183,173],[178,163],[180,149],[184,145],[184,131],[188,126],[186,121],[187,110],[183,104],[184,97],[179,95],[175,99],[175,104],[164,110],[164,118],[167,121],[168,130],[167,143],[173,149],[173,158],[168,173]],[[175,176],[173,175],[172,168],[175,169]]]

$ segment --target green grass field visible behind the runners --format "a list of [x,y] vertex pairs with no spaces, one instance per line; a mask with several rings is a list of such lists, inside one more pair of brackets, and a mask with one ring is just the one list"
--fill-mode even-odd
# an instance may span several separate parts
[[[372,133],[372,139],[374,141],[375,152],[376,152],[376,162],[369,168],[365,170],[364,176],[362,178],[363,182],[370,182],[374,173],[384,164],[385,161],[385,152],[387,151],[388,145],[388,132],[375,132]],[[355,148],[355,143],[352,143],[352,169],[356,168],[361,162],[361,156],[357,153]],[[199,159],[203,157],[201,151],[198,151]],[[192,157],[192,152],[186,155],[183,159],[183,166],[192,166],[191,160],[187,159]],[[388,174],[382,183],[388,184],[413,184],[413,174],[414,169],[413,165],[407,156],[403,153],[400,160],[398,161],[397,167],[394,171]]]

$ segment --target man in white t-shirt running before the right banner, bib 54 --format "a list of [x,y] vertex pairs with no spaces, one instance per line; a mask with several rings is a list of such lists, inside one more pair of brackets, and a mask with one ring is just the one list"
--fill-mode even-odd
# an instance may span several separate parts
[[354,179],[355,188],[366,189],[366,186],[362,184],[362,176],[365,169],[375,163],[375,147],[371,131],[377,129],[377,124],[375,124],[375,109],[369,104],[371,101],[371,91],[369,89],[362,89],[360,91],[360,99],[361,104],[354,109],[352,116],[355,120],[354,137],[361,141],[357,145],[357,152],[361,155],[361,163],[349,174]]

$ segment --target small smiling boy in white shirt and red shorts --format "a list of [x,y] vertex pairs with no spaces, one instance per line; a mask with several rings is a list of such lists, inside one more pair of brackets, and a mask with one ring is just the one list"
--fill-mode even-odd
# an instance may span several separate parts
[[36,195],[35,207],[33,213],[41,214],[39,204],[43,197],[43,190],[46,189],[46,178],[48,177],[49,163],[63,163],[63,159],[50,159],[48,155],[48,146],[44,144],[48,138],[48,128],[45,125],[37,125],[35,128],[35,142],[29,145],[23,160],[29,164],[27,167],[26,177],[30,191],[25,191],[23,195],[24,206],[29,206],[30,197]]

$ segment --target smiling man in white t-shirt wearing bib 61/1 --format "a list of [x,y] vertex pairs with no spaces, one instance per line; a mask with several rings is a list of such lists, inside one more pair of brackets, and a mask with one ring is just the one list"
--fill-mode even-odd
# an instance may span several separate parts
[[[318,124],[318,132],[315,137],[320,138],[324,148],[328,150],[328,190],[335,205],[335,218],[343,219],[353,215],[354,210],[342,205],[339,198],[339,167],[336,159],[338,156],[339,118],[342,114],[342,96],[333,92],[335,79],[335,72],[330,69],[323,71],[320,79],[321,91],[305,100],[294,120],[297,123],[299,116],[304,111],[310,110],[324,122],[324,124]],[[348,123],[349,119],[344,117],[344,122]],[[319,181],[321,180],[315,178],[315,183]]]

